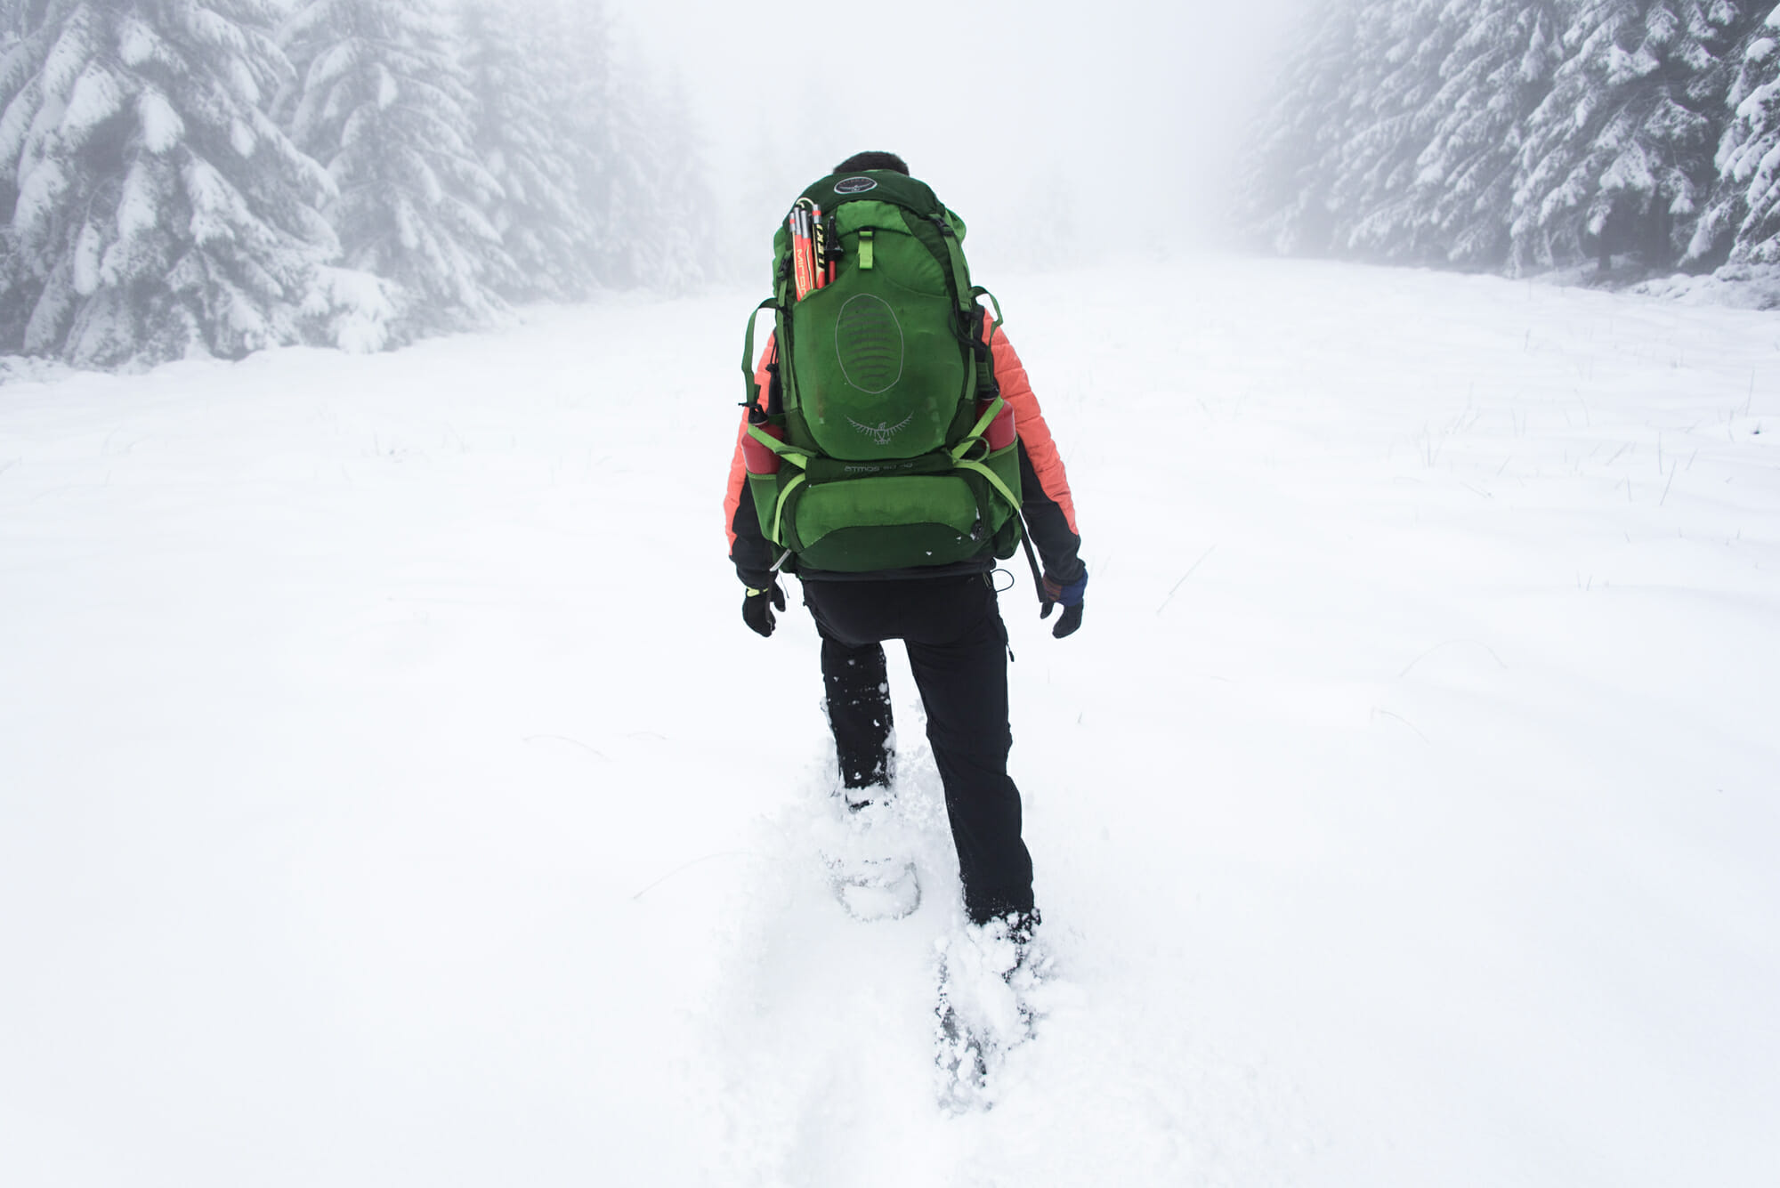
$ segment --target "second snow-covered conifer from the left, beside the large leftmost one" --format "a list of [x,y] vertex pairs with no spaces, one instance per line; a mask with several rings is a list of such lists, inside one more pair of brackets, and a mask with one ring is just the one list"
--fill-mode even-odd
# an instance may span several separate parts
[[292,139],[338,187],[328,215],[349,269],[397,286],[395,340],[491,320],[513,269],[488,217],[500,185],[472,144],[470,91],[434,0],[301,0],[285,23],[301,75]]

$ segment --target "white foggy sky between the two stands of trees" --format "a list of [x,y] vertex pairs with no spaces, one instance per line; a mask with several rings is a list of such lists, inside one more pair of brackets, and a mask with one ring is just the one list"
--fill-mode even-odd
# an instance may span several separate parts
[[[1127,247],[1202,238],[1303,7],[609,0],[644,60],[689,92],[714,181],[733,196],[726,238],[765,233],[849,153],[890,149],[968,221],[974,260],[1031,253],[1059,205],[1079,240],[1096,228]],[[1162,226],[1116,213],[1139,199]]]

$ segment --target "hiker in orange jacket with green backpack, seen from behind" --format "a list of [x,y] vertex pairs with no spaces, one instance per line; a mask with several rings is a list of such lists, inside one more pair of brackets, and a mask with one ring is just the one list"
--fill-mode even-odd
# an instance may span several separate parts
[[[890,790],[883,642],[927,710],[972,923],[1038,923],[1020,791],[1007,777],[1007,630],[991,571],[1027,532],[1041,617],[1082,622],[1088,569],[1063,459],[1000,311],[979,304],[965,224],[892,153],[860,153],[797,199],[774,238],[774,331],[730,468],[742,619],[771,635],[796,573],[822,637],[840,795]],[[993,299],[990,299],[993,301]],[[756,311],[758,313],[758,311]]]

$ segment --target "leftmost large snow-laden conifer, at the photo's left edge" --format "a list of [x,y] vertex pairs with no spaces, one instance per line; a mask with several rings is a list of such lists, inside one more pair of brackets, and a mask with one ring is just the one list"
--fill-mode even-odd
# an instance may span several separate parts
[[271,0],[9,5],[4,345],[84,366],[299,334],[328,176],[265,117]]

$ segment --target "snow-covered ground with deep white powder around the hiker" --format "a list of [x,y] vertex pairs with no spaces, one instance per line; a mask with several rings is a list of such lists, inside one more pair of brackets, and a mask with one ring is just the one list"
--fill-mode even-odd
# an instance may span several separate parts
[[[997,288],[1054,1010],[821,854],[723,557],[753,293],[0,389],[0,1183],[1780,1183],[1780,318],[1212,260]],[[796,594],[794,594],[796,603]]]

